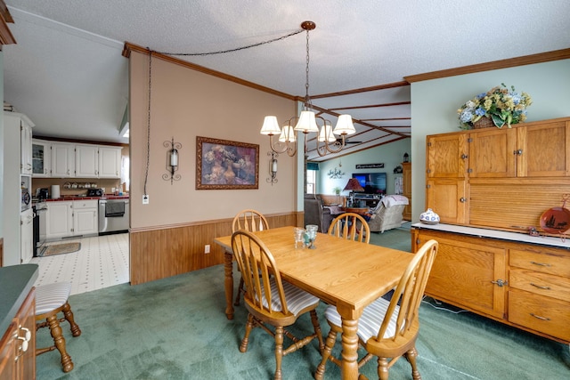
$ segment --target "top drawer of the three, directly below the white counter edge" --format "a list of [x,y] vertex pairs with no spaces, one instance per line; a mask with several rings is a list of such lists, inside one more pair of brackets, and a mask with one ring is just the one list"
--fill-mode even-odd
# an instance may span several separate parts
[[570,278],[570,255],[548,255],[539,252],[509,250],[509,264]]

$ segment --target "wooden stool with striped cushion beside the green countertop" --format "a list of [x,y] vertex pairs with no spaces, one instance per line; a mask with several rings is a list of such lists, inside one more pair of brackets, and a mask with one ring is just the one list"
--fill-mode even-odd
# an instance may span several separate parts
[[[69,282],[55,282],[53,284],[36,287],[36,330],[41,327],[50,327],[53,337],[53,346],[38,348],[36,355],[53,351],[56,348],[61,353],[61,366],[63,372],[73,369],[71,357],[65,349],[65,338],[61,334],[60,322],[67,319],[73,336],[80,336],[81,330],[73,319],[73,312],[68,303],[71,284]],[[58,319],[57,313],[63,311],[63,318]],[[42,321],[45,319],[45,321]]]

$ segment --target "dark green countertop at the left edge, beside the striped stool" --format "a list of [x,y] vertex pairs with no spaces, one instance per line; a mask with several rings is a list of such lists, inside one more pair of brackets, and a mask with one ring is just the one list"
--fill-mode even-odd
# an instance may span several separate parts
[[37,264],[0,268],[0,337],[12,323],[38,276]]

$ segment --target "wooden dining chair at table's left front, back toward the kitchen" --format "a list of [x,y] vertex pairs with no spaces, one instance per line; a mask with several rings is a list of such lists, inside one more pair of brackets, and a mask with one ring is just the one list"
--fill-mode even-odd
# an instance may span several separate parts
[[[284,356],[319,341],[319,351],[324,347],[321,326],[316,308],[319,298],[281,279],[281,273],[273,255],[265,243],[247,230],[232,234],[232,251],[245,282],[244,302],[248,309],[246,331],[240,344],[240,352],[248,351],[249,335],[254,327],[261,327],[275,339],[275,374],[281,380],[281,360]],[[283,327],[293,325],[299,316],[309,311],[314,332],[298,339]],[[271,327],[270,327],[271,326]],[[272,328],[273,327],[273,328]],[[283,349],[284,336],[292,343]]]

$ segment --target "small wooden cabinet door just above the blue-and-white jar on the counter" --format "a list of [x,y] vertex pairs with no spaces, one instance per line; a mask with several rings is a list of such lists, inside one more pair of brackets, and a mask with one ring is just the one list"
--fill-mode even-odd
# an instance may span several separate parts
[[468,184],[465,180],[428,179],[426,206],[444,223],[468,222]]

